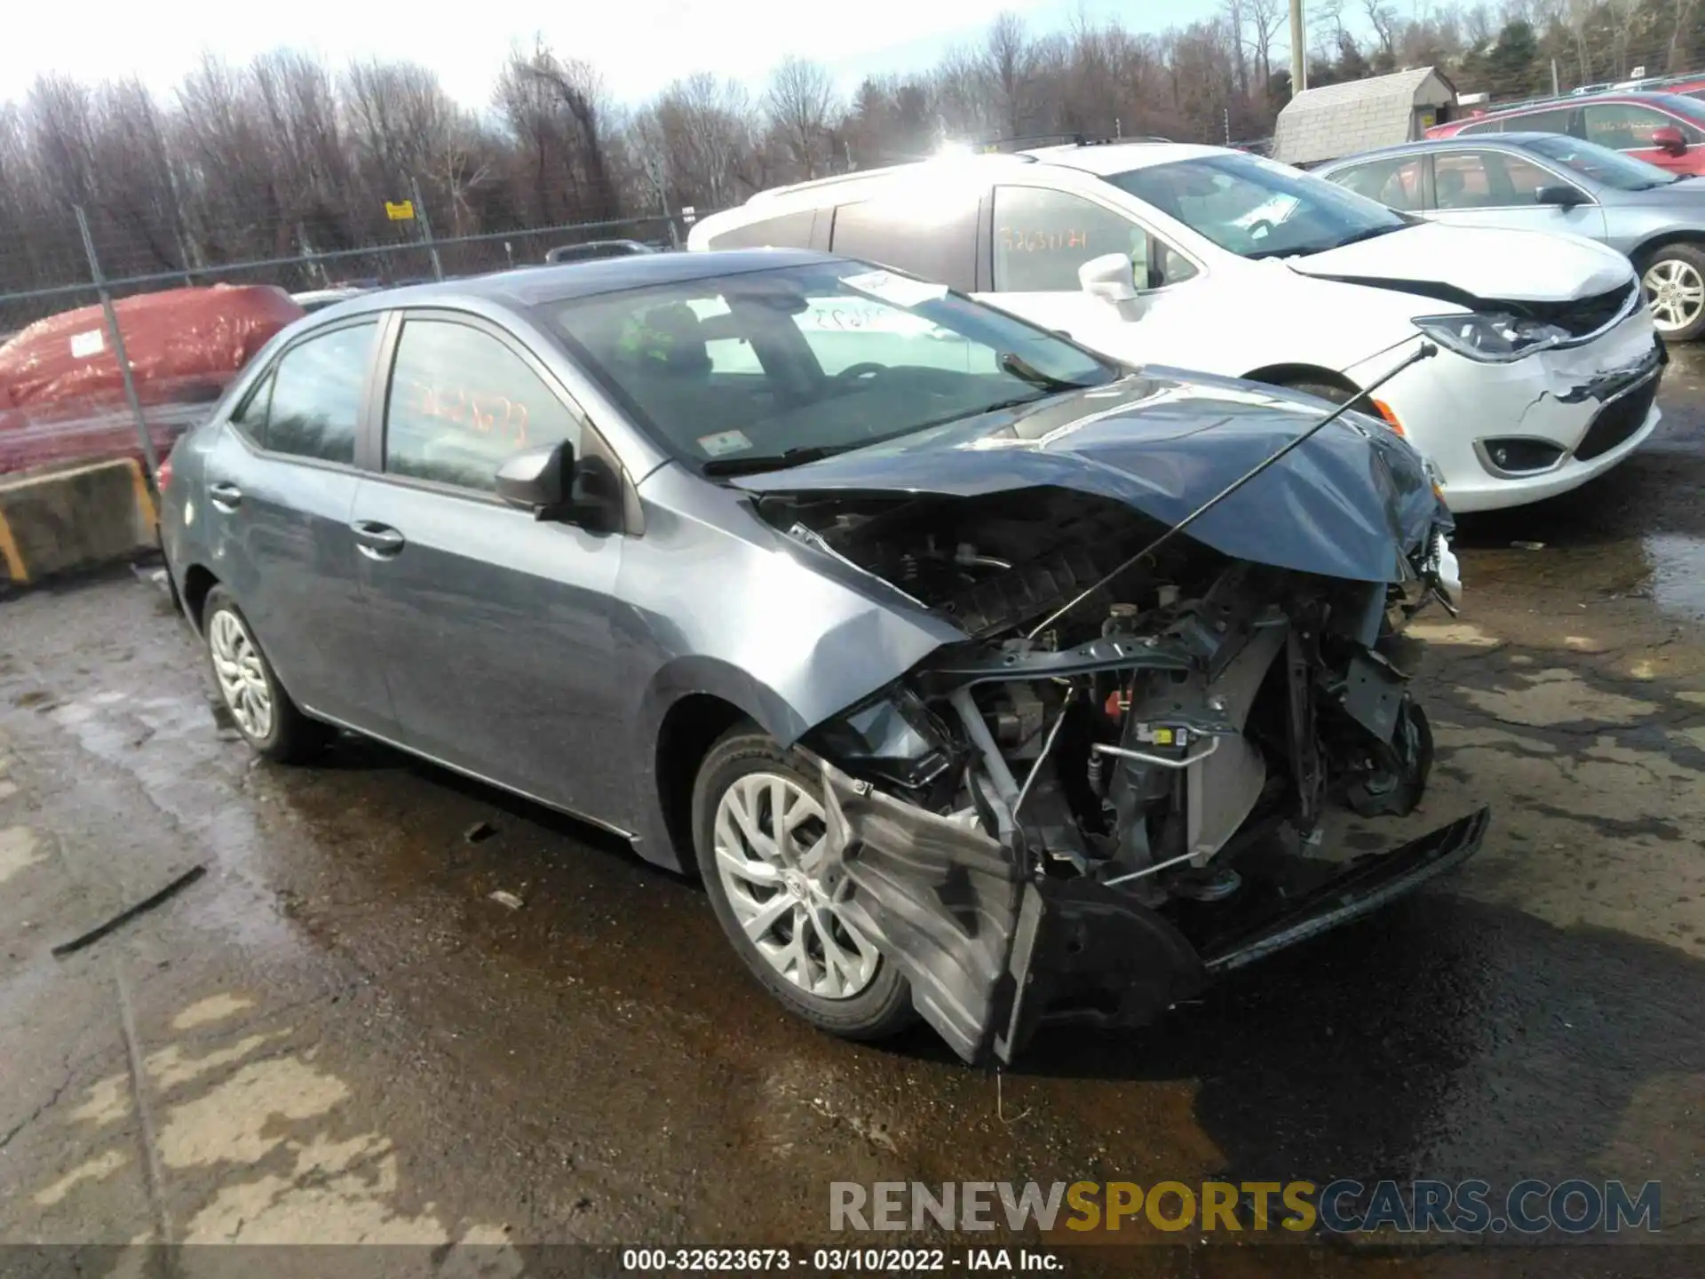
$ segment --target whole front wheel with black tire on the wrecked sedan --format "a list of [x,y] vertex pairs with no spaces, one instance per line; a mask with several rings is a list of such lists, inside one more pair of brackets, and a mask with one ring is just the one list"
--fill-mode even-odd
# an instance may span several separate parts
[[[745,812],[755,824],[760,836],[774,841],[772,796],[776,781],[783,783],[784,813],[793,839],[783,841],[788,848],[777,858],[764,858],[762,849],[745,836],[735,812]],[[725,733],[704,755],[699,764],[699,776],[692,786],[692,842],[704,877],[704,888],[709,894],[716,919],[728,935],[730,943],[750,969],[752,975],[767,989],[788,1011],[805,1018],[820,1030],[827,1030],[844,1039],[875,1040],[887,1039],[916,1020],[912,1011],[912,993],[905,977],[880,955],[876,948],[849,929],[825,899],[844,894],[851,885],[832,880],[832,870],[810,873],[812,859],[806,858],[800,870],[800,851],[808,846],[822,825],[820,813],[822,781],[817,779],[801,759],[783,750],[767,735],[752,725],[738,725]],[[793,805],[806,805],[803,810]],[[812,813],[817,813],[815,817]],[[781,861],[788,868],[779,870],[776,883],[757,883],[743,873],[725,868],[725,859],[718,858],[718,825],[723,825],[725,849],[733,853],[740,866],[748,875],[766,873]],[[822,894],[822,895],[818,895]],[[793,902],[786,906],[784,902]],[[747,933],[745,921],[769,917],[764,911],[771,902],[781,907],[774,924],[764,928],[759,938],[760,948]],[[827,923],[834,945],[834,953],[870,964],[849,975],[847,967],[830,964],[820,933],[820,924]],[[800,929],[805,936],[798,950],[791,950],[798,941]],[[863,943],[863,946],[859,945]],[[815,960],[813,955],[815,945]],[[793,960],[789,975],[783,965],[788,964],[789,952],[803,955],[805,964]],[[769,955],[776,955],[771,958]],[[818,989],[827,991],[839,974],[841,994],[817,993],[806,982],[822,977]],[[854,987],[854,982],[856,987]],[[854,987],[847,993],[847,987]]]

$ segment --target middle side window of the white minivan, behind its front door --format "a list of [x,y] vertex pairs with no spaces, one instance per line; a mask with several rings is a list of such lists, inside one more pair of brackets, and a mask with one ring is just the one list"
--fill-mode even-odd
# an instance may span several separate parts
[[970,293],[977,286],[977,191],[962,188],[842,205],[829,247]]

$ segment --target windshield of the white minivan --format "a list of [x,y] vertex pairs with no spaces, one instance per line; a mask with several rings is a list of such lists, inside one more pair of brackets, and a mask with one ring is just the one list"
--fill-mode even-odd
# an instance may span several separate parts
[[1240,152],[1108,174],[1107,181],[1243,258],[1323,252],[1408,225],[1337,182]]

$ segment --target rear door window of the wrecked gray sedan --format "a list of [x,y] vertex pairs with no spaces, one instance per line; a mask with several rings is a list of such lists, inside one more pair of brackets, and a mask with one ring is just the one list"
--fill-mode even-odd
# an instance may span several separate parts
[[351,324],[285,351],[266,413],[268,450],[355,462],[355,425],[377,334],[377,321]]

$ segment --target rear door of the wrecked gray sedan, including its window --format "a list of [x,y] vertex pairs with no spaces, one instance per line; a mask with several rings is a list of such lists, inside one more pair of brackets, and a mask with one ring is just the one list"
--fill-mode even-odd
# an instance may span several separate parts
[[194,503],[213,568],[302,706],[375,733],[390,701],[373,662],[350,510],[380,317],[288,346],[220,431]]

